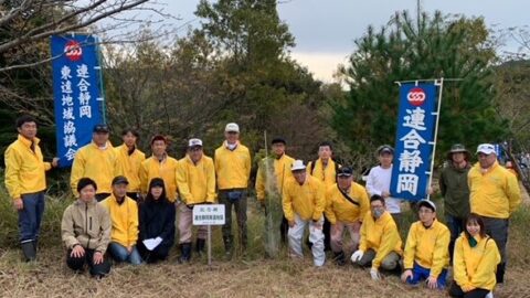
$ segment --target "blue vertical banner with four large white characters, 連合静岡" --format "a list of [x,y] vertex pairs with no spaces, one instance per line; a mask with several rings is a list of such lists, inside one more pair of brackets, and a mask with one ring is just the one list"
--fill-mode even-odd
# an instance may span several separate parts
[[436,126],[438,87],[432,84],[402,84],[390,193],[418,201],[427,196]]

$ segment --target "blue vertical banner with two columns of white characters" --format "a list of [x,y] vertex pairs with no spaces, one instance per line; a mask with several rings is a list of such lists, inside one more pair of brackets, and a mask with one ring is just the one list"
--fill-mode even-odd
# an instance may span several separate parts
[[97,39],[53,35],[51,47],[57,157],[60,167],[71,167],[77,150],[91,142],[93,127],[104,123]]

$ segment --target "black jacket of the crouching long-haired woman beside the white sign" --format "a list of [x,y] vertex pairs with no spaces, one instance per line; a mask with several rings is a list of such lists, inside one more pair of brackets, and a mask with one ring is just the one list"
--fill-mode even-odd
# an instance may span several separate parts
[[140,204],[138,242],[161,237],[157,251],[169,252],[174,243],[174,204],[167,200],[146,201]]

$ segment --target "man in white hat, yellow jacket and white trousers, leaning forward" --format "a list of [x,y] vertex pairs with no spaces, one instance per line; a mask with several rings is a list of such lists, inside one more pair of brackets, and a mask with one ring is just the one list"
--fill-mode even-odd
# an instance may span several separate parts
[[324,209],[326,189],[322,182],[307,174],[301,160],[295,160],[292,167],[295,179],[289,180],[284,191],[284,214],[289,223],[289,248],[292,257],[303,257],[301,237],[309,225],[312,262],[320,267],[326,262],[324,253]]

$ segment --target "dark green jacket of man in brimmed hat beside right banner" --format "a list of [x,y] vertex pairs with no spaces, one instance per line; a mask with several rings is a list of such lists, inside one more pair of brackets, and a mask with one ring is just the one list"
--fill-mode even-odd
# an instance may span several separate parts
[[445,214],[458,219],[469,215],[469,185],[467,173],[471,166],[469,162],[464,169],[456,169],[452,161],[447,161],[439,175],[439,190],[444,196]]

